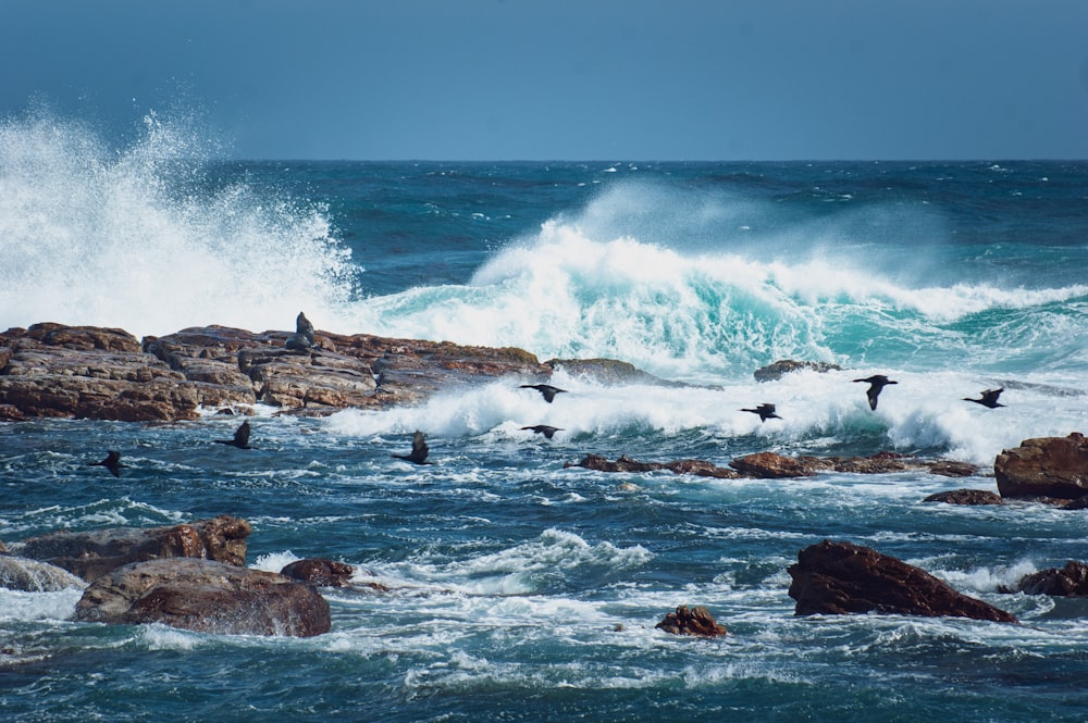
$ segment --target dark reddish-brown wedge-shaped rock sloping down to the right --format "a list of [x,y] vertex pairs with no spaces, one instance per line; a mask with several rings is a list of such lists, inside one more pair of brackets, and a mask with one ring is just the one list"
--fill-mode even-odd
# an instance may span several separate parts
[[824,540],[807,547],[789,573],[798,615],[875,612],[1018,622],[918,568],[851,543]]

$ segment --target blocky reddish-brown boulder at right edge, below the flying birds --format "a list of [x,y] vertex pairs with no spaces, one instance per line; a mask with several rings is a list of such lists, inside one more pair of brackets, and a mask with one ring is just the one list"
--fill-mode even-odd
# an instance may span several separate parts
[[1088,439],[1078,432],[1025,439],[998,454],[993,476],[1002,497],[1078,499],[1088,495]]

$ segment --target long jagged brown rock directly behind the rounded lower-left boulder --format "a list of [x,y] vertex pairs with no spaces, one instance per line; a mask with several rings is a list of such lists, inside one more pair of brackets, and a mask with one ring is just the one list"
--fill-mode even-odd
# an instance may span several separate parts
[[23,557],[49,562],[90,582],[122,565],[156,558],[206,558],[244,565],[250,532],[248,522],[224,514],[148,529],[49,533],[13,543],[12,548]]

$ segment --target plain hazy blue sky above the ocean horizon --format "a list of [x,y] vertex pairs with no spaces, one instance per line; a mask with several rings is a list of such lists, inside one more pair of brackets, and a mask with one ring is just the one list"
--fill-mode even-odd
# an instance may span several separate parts
[[0,0],[0,66],[240,159],[1088,159],[1086,0]]

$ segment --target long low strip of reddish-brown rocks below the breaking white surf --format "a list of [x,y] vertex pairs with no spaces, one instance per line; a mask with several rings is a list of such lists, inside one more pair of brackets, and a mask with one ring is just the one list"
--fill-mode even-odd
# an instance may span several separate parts
[[894,452],[879,452],[871,457],[784,457],[775,452],[756,452],[738,457],[722,468],[705,460],[676,460],[671,462],[640,462],[626,454],[615,461],[599,454],[588,454],[580,461],[565,464],[598,472],[654,472],[668,470],[676,474],[737,479],[781,479],[811,477],[819,472],[849,472],[856,474],[885,474],[907,470],[925,470],[942,476],[972,476],[978,468],[966,462],[949,460],[927,461]]

